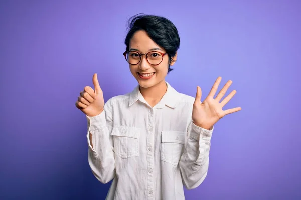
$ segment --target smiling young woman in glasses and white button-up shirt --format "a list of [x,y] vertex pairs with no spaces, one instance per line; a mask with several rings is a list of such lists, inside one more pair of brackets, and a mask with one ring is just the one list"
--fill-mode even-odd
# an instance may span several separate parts
[[183,185],[196,188],[207,175],[213,125],[241,110],[222,110],[236,91],[221,100],[228,81],[214,97],[218,77],[203,102],[200,87],[195,98],[177,92],[165,81],[177,60],[177,28],[152,15],[132,17],[129,28],[123,55],[138,86],[104,103],[94,74],[94,89],[76,101],[88,120],[89,164],[100,182],[114,179],[107,199],[185,199]]

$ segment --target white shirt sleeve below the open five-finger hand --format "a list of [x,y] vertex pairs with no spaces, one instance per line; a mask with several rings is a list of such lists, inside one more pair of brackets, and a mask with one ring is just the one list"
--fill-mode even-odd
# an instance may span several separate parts
[[195,125],[188,127],[188,139],[180,158],[182,180],[187,189],[198,187],[207,176],[210,140],[214,127],[207,130]]

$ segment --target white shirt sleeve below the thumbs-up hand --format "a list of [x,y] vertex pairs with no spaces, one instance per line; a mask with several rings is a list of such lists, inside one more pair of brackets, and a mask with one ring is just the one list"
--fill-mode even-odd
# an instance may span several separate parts
[[[108,183],[115,175],[114,144],[111,132],[113,115],[111,99],[104,106],[104,111],[97,116],[86,116],[88,122],[88,162],[92,173],[101,183]],[[89,134],[92,134],[92,144]]]

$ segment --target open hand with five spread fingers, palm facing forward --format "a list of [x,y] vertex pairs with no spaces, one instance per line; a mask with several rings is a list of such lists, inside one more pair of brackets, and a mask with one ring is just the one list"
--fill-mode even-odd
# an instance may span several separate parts
[[192,110],[192,121],[195,125],[209,130],[219,119],[221,119],[225,115],[241,110],[240,107],[227,109],[227,110],[222,109],[236,93],[236,91],[233,90],[228,96],[226,96],[221,101],[222,97],[225,95],[228,88],[232,84],[231,80],[229,80],[224,85],[221,91],[214,98],[214,95],[221,82],[221,79],[222,79],[221,77],[218,77],[216,79],[208,96],[205,98],[205,100],[202,103],[201,103],[202,91],[199,86],[197,87],[197,94]]

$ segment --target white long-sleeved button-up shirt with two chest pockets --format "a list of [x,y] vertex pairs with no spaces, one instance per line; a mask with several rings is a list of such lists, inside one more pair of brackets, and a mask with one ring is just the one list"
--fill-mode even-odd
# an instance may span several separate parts
[[193,189],[204,181],[213,128],[196,126],[195,98],[166,84],[154,107],[138,85],[109,99],[101,114],[86,116],[91,170],[102,183],[114,179],[106,199],[185,199],[183,185]]

